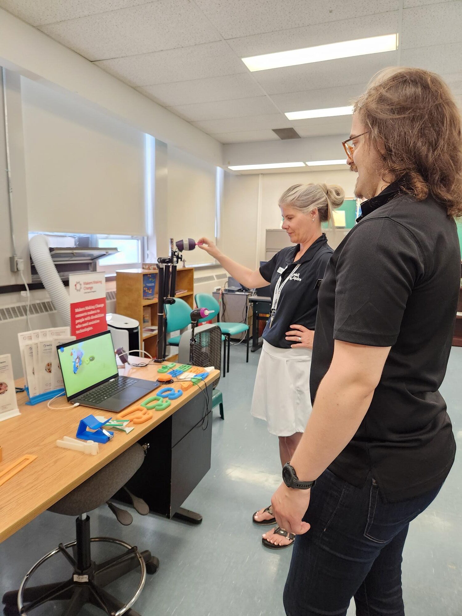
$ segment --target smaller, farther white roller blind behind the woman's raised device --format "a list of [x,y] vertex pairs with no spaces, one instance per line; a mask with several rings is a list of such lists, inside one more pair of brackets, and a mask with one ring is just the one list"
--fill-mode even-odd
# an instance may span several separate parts
[[[216,166],[175,147],[168,147],[168,231],[175,241],[215,238]],[[212,263],[196,248],[183,255],[187,265]]]

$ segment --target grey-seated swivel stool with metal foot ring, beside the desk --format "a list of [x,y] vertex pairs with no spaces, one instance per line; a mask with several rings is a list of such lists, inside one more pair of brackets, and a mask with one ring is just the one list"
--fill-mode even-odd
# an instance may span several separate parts
[[[26,573],[19,590],[10,591],[3,596],[4,615],[18,616],[30,614],[36,607],[43,606],[50,601],[67,601],[63,611],[64,616],[76,616],[85,604],[98,607],[105,614],[111,616],[140,616],[131,609],[131,606],[139,598],[143,589],[146,573],[155,573],[159,561],[151,556],[149,551],[139,552],[138,548],[132,547],[118,539],[110,537],[90,538],[90,518],[87,511],[92,511],[106,503],[111,496],[124,487],[126,482],[135,474],[144,461],[144,448],[135,444],[121,453],[110,463],[103,466],[94,475],[89,477],[83,484],[76,487],[49,511],[65,516],[76,517],[76,540],[63,545],[43,556]],[[140,500],[136,499],[136,505],[140,506]],[[142,501],[143,502],[143,501]],[[144,503],[145,505],[145,503]],[[145,505],[145,509],[147,505]],[[116,517],[121,516],[121,510],[116,509]],[[147,513],[144,509],[143,513]],[[124,512],[124,524],[129,523],[128,512]],[[91,559],[91,543],[103,541],[115,543],[126,548],[123,554],[108,559],[100,564]],[[72,548],[72,555],[68,551]],[[73,573],[65,582],[54,582],[41,586],[27,586],[30,577],[36,570],[55,554],[62,554],[69,562]],[[126,573],[140,567],[140,582],[134,596],[124,604],[110,593],[104,590],[114,580],[121,578]],[[50,606],[50,612],[52,612]],[[54,613],[54,612],[53,612]]]

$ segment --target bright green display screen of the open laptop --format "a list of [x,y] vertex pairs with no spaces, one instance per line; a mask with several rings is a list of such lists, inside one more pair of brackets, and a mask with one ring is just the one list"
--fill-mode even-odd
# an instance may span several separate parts
[[57,347],[68,399],[118,375],[110,331]]

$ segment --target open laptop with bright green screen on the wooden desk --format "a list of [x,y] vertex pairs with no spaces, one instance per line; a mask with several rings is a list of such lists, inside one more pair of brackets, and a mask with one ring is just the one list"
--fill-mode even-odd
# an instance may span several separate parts
[[69,402],[118,413],[153,391],[153,381],[119,375],[110,331],[57,350]]

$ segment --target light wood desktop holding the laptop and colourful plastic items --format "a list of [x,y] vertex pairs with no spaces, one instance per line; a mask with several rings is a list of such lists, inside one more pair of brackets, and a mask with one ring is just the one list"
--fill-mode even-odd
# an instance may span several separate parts
[[[127,367],[120,370],[120,374],[155,381],[158,367],[160,365]],[[206,378],[206,384],[211,386],[218,375],[217,370],[211,372]],[[19,382],[17,384],[20,386]],[[103,415],[109,418],[116,417],[117,413],[84,406],[70,410],[52,410],[47,408],[47,402],[31,407],[25,405],[26,394],[18,394],[18,405],[22,414],[0,423],[0,445],[3,453],[0,471],[25,454],[38,457],[0,487],[0,541],[10,537],[59,501],[197,395],[203,394],[199,386],[193,386],[179,399],[172,400],[166,410],[153,411],[150,421],[134,426],[134,430],[129,434],[114,431],[113,439],[99,445],[99,453],[92,456],[57,447],[56,441],[64,436],[75,438],[79,421],[87,415]],[[60,397],[53,400],[51,405],[65,407],[67,401],[65,397]],[[132,406],[136,407],[137,404]]]

